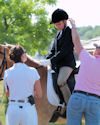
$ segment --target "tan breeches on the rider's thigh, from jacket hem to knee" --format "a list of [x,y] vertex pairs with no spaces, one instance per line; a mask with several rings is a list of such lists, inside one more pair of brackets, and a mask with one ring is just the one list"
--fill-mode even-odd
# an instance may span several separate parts
[[58,74],[57,84],[61,86],[63,83],[65,83],[69,78],[70,74],[72,73],[72,71],[73,69],[71,67],[61,67]]

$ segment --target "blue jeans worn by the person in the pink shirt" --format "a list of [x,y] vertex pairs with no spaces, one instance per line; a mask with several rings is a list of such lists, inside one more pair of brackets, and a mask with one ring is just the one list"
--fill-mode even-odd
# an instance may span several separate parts
[[100,99],[73,93],[67,105],[67,125],[81,125],[83,114],[86,125],[100,125]]

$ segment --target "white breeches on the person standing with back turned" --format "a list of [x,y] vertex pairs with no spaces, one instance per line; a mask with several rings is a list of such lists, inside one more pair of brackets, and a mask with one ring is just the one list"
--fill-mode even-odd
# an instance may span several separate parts
[[38,125],[35,104],[31,106],[27,102],[9,102],[6,125]]

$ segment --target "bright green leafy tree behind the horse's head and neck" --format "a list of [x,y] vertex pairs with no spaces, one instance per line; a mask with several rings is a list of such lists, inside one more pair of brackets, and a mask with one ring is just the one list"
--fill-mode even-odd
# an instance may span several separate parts
[[45,6],[54,4],[56,0],[0,0],[0,43],[21,44],[31,55],[45,52],[53,38]]

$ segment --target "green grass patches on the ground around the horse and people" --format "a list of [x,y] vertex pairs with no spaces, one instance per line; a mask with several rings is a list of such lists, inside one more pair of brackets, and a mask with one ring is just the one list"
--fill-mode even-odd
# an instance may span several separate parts
[[[0,82],[0,100],[1,100],[2,95],[3,95],[3,90],[4,90],[3,84],[2,84],[2,82]],[[0,121],[2,122],[2,125],[5,125],[5,104],[3,104],[3,103],[0,103]],[[65,124],[49,123],[49,125],[66,125],[66,123]],[[84,120],[82,121],[82,125],[85,125]]]

